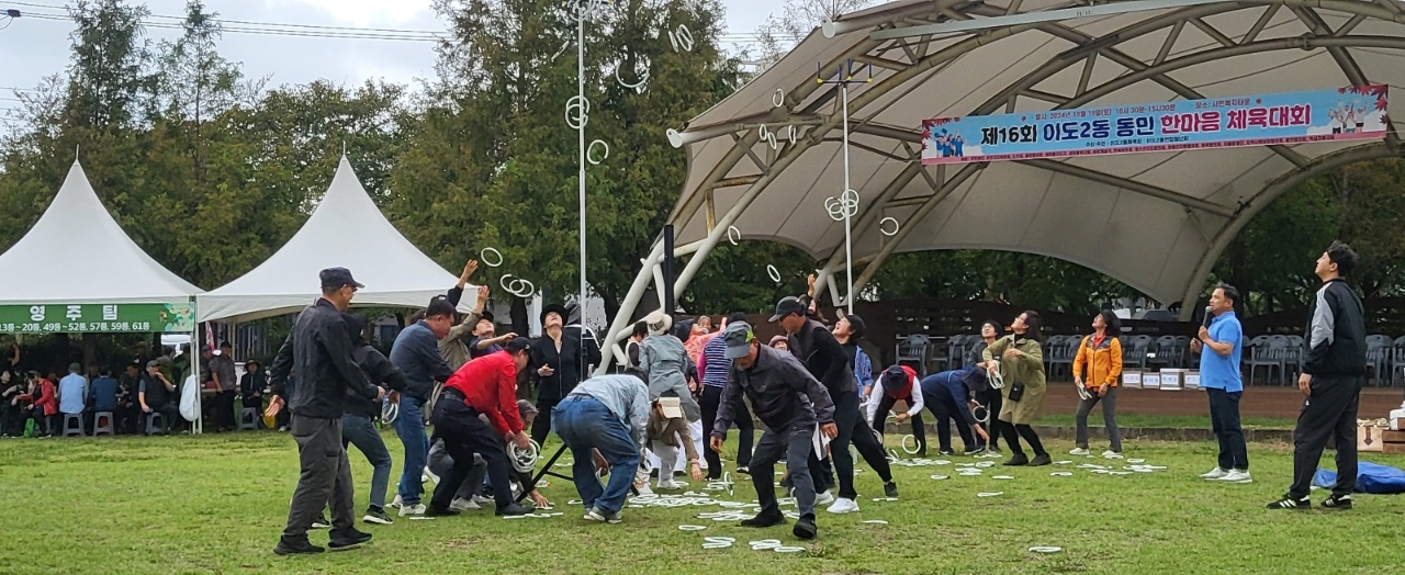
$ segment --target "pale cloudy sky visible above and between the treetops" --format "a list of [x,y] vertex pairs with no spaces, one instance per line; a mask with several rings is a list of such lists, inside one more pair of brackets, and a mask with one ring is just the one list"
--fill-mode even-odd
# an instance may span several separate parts
[[[15,8],[30,13],[13,21],[0,18],[0,117],[4,108],[17,107],[10,89],[31,89],[39,79],[62,72],[69,59],[69,32],[73,22],[63,18],[66,0],[0,0],[0,11]],[[146,0],[152,22],[178,24],[184,0]],[[389,34],[379,30],[434,32],[444,25],[430,8],[431,0],[207,0],[207,6],[226,22],[226,30],[268,31],[267,22],[296,24],[282,28],[311,34]],[[726,37],[746,41],[781,0],[722,0],[726,7]],[[171,17],[171,18],[162,18]],[[6,27],[8,24],[8,27]],[[318,27],[336,27],[318,28]],[[341,28],[362,28],[361,32]],[[365,28],[378,28],[367,31]],[[153,39],[174,38],[178,30],[149,28]],[[424,37],[402,32],[399,37]],[[357,84],[381,77],[406,83],[433,76],[431,42],[414,39],[346,39],[292,37],[285,34],[240,34],[226,31],[221,53],[242,62],[249,76],[270,76],[270,86],[327,79]]]

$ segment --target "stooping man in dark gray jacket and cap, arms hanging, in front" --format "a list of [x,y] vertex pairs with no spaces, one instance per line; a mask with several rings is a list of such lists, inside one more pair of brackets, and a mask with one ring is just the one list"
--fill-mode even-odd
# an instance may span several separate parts
[[788,351],[762,346],[746,322],[728,325],[722,337],[726,339],[726,358],[732,360],[732,375],[722,391],[708,446],[714,451],[722,450],[726,430],[732,426],[732,413],[742,403],[743,395],[752,401],[756,418],[766,425],[750,467],[762,512],[742,522],[742,526],[770,527],[785,523],[785,516],[776,503],[773,477],[776,463],[784,456],[801,515],[792,533],[799,538],[815,538],[815,484],[809,477],[809,454],[813,450],[816,423],[825,437],[835,439],[839,434],[835,403],[799,360]]

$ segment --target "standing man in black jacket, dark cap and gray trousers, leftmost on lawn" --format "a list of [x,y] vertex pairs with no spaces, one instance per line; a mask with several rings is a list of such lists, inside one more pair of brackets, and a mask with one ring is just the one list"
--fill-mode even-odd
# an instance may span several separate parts
[[[355,529],[351,486],[351,464],[341,444],[341,415],[347,394],[379,399],[379,388],[371,385],[365,373],[351,357],[351,337],[347,336],[341,312],[362,285],[344,267],[322,270],[322,298],[298,315],[292,333],[278,349],[270,368],[274,398],[268,415],[277,415],[287,403],[292,411],[289,423],[292,439],[298,441],[302,474],[288,509],[288,526],[274,547],[280,555],[322,553],[308,541],[308,529],[332,500],[333,551],[353,548],[371,540],[370,533]],[[298,381],[289,398],[284,398],[289,374]]]

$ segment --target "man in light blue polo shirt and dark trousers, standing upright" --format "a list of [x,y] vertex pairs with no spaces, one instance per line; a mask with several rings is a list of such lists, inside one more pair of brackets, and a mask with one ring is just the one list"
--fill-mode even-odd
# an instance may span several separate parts
[[1234,314],[1239,291],[1220,284],[1210,295],[1208,326],[1201,326],[1190,350],[1200,353],[1200,387],[1210,396],[1210,425],[1220,439],[1220,464],[1200,475],[1210,481],[1250,484],[1249,450],[1239,426],[1239,398],[1243,378],[1239,375],[1239,356],[1243,351],[1243,328]]

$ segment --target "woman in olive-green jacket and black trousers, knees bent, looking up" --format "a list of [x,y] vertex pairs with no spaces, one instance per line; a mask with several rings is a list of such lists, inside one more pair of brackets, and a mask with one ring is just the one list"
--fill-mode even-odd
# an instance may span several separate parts
[[[1000,395],[1005,399],[1000,408],[998,426],[1005,434],[1005,443],[1010,446],[1013,454],[1006,465],[1050,465],[1048,451],[1038,433],[1031,425],[1040,416],[1044,405],[1044,351],[1040,347],[1040,315],[1027,311],[1014,318],[1010,330],[1013,335],[998,339],[982,353],[988,373],[999,373],[1005,380]],[[1020,437],[1030,443],[1034,450],[1034,460],[1024,456],[1020,448]]]

